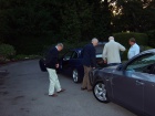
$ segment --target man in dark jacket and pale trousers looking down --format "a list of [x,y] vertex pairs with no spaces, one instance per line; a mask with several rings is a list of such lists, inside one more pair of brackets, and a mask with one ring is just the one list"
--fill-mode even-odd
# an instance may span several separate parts
[[50,86],[49,86],[49,96],[58,96],[56,94],[54,94],[54,88],[56,91],[56,93],[63,92],[64,89],[61,88],[58,75],[56,75],[56,71],[55,68],[59,67],[59,52],[62,51],[63,49],[63,44],[62,43],[58,43],[56,46],[51,48],[50,51],[48,52],[46,56],[45,56],[45,66],[46,66],[46,71],[49,73],[49,80],[50,80]]

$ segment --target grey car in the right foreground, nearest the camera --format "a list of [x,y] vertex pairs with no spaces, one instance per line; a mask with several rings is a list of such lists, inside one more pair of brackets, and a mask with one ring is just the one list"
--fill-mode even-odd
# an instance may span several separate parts
[[141,116],[155,116],[155,49],[125,64],[94,70],[90,81],[97,101],[112,101]]

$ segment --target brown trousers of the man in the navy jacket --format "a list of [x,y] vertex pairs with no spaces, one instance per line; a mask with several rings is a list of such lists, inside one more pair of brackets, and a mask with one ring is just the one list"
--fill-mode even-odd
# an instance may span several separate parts
[[91,86],[90,80],[89,80],[89,72],[91,70],[92,70],[92,67],[87,67],[84,65],[84,77],[83,77],[82,88],[92,89],[92,86]]

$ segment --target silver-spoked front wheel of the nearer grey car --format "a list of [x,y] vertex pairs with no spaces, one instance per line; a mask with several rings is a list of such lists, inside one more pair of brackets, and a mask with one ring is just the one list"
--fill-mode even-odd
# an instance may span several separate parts
[[102,103],[108,103],[107,91],[103,82],[97,82],[93,87],[95,98]]

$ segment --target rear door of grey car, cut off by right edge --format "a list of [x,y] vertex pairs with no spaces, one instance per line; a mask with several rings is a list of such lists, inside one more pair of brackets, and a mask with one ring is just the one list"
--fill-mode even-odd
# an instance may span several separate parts
[[147,61],[152,63],[152,65],[146,70],[144,112],[146,116],[155,116],[155,55],[152,55]]

